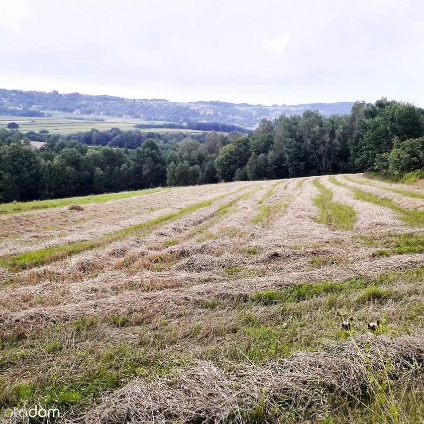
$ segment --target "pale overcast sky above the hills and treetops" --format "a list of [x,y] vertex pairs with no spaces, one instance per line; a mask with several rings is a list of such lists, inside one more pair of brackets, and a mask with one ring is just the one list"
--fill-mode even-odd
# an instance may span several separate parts
[[0,0],[0,88],[424,106],[423,0]]

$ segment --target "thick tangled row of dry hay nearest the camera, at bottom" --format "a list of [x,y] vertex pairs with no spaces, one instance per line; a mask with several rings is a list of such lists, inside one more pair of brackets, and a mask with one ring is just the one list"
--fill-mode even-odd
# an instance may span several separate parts
[[373,398],[378,372],[412,383],[423,362],[424,338],[413,335],[394,340],[364,336],[329,345],[325,352],[302,352],[264,366],[226,364],[232,372],[197,361],[165,377],[135,379],[68,422],[241,424],[246,412],[255,410],[260,411],[258,418],[272,421],[275,404],[283,399],[287,407],[304,405],[301,414],[318,419],[328,412],[330,392],[339,400],[367,402]]

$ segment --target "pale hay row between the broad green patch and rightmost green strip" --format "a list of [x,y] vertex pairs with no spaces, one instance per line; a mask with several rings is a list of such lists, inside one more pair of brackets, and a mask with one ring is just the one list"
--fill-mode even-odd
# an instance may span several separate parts
[[[339,181],[337,177],[335,177],[335,179]],[[332,184],[328,180],[328,177],[321,178],[321,182],[327,189],[333,192],[334,202],[351,206],[355,210],[357,214],[357,219],[354,224],[355,232],[402,230],[403,223],[397,218],[395,212],[381,206],[355,200],[350,190]]]

